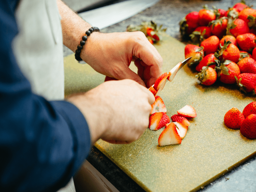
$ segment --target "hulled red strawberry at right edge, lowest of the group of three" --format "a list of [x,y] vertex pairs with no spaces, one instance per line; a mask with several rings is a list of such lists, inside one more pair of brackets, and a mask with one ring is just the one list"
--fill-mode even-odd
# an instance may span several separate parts
[[247,116],[240,128],[240,132],[247,139],[256,139],[256,115]]

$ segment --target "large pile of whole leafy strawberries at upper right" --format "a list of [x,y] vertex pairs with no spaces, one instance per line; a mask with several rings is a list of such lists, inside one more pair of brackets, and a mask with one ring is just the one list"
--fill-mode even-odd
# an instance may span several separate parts
[[185,47],[189,66],[204,85],[217,80],[256,91],[256,10],[244,1],[228,10],[204,6],[180,21],[180,32],[191,44]]

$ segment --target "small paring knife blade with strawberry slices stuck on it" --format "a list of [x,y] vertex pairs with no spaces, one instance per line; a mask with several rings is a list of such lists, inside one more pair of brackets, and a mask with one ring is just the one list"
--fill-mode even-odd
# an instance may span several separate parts
[[164,85],[166,83],[166,80],[169,80],[170,82],[174,79],[175,75],[177,74],[177,72],[188,62],[188,60],[190,60],[192,57],[189,57],[187,59],[185,59],[184,61],[182,62],[179,62],[177,65],[175,65],[174,68],[172,68],[168,75],[165,76],[158,84],[157,88],[155,89],[154,85],[153,84],[151,87],[148,88],[149,91],[151,91],[155,97],[157,96],[157,94],[163,90],[164,88]]

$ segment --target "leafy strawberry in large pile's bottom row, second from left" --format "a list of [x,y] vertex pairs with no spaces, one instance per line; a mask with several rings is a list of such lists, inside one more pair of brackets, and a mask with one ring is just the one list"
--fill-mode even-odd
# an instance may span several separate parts
[[220,77],[220,82],[225,84],[236,83],[235,76],[240,74],[240,69],[236,63],[230,60],[225,60],[220,62],[220,65],[215,67],[218,77]]

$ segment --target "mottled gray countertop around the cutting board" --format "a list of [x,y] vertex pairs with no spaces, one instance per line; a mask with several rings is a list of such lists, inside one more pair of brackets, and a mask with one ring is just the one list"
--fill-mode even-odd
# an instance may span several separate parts
[[[179,33],[179,21],[186,16],[186,14],[192,11],[199,11],[205,4],[207,4],[209,8],[214,5],[217,8],[227,10],[237,2],[240,1],[160,0],[152,7],[132,16],[131,18],[107,28],[103,28],[101,32],[124,32],[126,27],[130,24],[140,25],[141,21],[153,20],[157,24],[163,24],[163,27],[167,28],[166,33],[168,35],[181,41],[181,36]],[[256,8],[256,1],[247,0],[246,3],[248,5],[253,5],[253,8]],[[64,47],[64,55],[71,53],[73,52]],[[215,180],[199,191],[256,192],[256,157],[254,156],[249,161],[221,176],[219,179]]]

